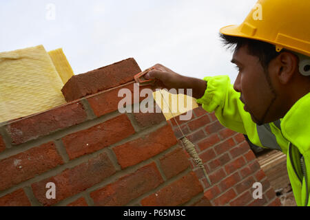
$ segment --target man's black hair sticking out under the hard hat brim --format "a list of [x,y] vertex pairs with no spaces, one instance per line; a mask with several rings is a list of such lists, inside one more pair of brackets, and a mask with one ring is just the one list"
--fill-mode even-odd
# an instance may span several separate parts
[[239,36],[229,36],[220,34],[220,39],[228,49],[234,51],[239,50],[240,47],[247,45],[248,53],[259,58],[262,67],[267,70],[269,63],[276,58],[280,52],[276,51],[276,46],[263,41],[254,39],[242,38]]

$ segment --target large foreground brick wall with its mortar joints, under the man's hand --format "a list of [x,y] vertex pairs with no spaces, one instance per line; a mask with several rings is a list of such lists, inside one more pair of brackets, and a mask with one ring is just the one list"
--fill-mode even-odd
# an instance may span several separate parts
[[0,206],[210,206],[163,114],[119,113],[118,89],[1,123]]

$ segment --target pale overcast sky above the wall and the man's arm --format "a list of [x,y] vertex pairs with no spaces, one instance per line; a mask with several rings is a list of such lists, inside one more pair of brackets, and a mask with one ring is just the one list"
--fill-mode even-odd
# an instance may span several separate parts
[[74,74],[133,57],[141,69],[161,63],[234,83],[232,54],[218,33],[242,23],[256,1],[0,0],[0,52],[42,44],[62,47]]

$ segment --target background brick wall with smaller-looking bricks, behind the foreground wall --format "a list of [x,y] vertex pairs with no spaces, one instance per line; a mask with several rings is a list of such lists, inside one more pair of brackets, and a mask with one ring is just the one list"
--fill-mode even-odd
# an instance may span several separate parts
[[[211,180],[211,186],[200,168],[192,168],[203,183],[205,197],[213,206],[280,206],[280,200],[271,188],[265,173],[260,168],[245,137],[231,131],[218,122],[214,113],[207,113],[202,107],[192,111],[189,121],[169,120],[176,137],[182,134],[196,145],[196,151]],[[253,184],[262,184],[262,199],[254,199]]]

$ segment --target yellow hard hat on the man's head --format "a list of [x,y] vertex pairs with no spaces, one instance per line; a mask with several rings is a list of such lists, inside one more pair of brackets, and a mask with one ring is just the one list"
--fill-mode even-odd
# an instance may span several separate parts
[[259,0],[241,25],[220,30],[310,56],[310,0]]

